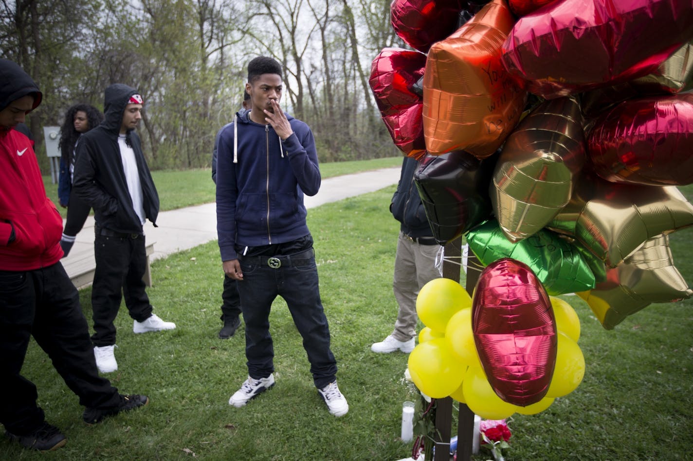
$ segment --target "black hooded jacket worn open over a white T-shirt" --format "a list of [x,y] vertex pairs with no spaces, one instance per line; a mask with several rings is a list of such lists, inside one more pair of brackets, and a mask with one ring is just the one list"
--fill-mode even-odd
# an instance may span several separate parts
[[[100,227],[120,233],[142,233],[142,225],[132,207],[132,197],[125,180],[118,136],[123,114],[130,96],[137,90],[116,83],[109,86],[104,96],[104,119],[98,127],[80,136],[77,143],[72,190],[85,204],[94,208],[94,218]],[[126,134],[137,161],[142,186],[144,214],[157,226],[159,193],[144,159],[139,136],[133,130]]]

